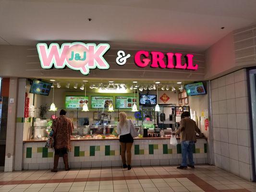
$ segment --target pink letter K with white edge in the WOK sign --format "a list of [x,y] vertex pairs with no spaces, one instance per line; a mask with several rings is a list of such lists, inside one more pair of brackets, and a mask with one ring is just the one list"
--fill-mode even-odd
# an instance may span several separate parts
[[89,51],[88,51],[88,66],[89,67],[96,67],[94,65],[94,60],[97,61],[98,65],[102,68],[107,68],[108,65],[106,65],[106,63],[104,63],[104,61],[100,58],[100,56],[103,55],[103,53],[106,51],[106,49],[108,48],[108,46],[105,45],[100,45],[99,48],[97,49],[97,51],[95,52],[95,46],[88,46]]

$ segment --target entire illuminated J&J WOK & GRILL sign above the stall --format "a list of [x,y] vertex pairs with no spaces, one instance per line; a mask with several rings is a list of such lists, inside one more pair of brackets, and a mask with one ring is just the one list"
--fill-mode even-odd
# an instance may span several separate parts
[[[58,43],[51,43],[49,47],[45,43],[37,44],[37,51],[43,69],[63,69],[66,66],[70,69],[80,71],[82,74],[87,75],[90,69],[109,69],[109,63],[104,59],[104,54],[110,49],[110,44],[100,43],[63,43],[61,47]],[[125,54],[124,51],[117,52],[116,63],[124,65],[126,60],[131,57],[130,54]],[[166,57],[166,62],[165,58]],[[186,54],[186,63],[182,64],[181,53],[166,54],[160,51],[137,51],[134,55],[134,63],[138,67],[146,67],[150,64],[152,68],[166,68],[166,69],[184,69],[184,70],[197,70],[198,65],[193,64],[192,54]]]

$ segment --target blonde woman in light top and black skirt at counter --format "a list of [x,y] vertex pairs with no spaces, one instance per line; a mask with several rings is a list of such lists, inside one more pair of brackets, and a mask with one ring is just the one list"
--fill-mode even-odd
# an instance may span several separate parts
[[[132,145],[134,139],[131,135],[131,129],[134,129],[134,123],[132,120],[127,120],[125,112],[119,113],[119,122],[117,124],[117,133],[120,135],[119,141],[121,144],[121,157],[122,157],[122,167],[131,169],[131,159],[132,159]],[[125,158],[125,152],[127,153],[127,164]]]

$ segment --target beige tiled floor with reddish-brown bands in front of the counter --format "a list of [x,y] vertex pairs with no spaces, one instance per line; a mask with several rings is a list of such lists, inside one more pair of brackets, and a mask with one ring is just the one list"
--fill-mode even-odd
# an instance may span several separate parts
[[214,166],[0,172],[0,192],[256,192],[256,183]]

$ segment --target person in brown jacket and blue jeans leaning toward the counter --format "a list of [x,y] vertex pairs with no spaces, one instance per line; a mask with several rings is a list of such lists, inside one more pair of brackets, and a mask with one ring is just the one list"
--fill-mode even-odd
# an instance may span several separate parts
[[[180,128],[173,132],[173,135],[181,134],[181,145],[182,145],[182,164],[178,169],[195,168],[193,160],[193,145],[196,142],[195,132],[201,134],[200,129],[197,127],[194,120],[189,118],[189,112],[184,111],[181,115],[182,120],[180,121]],[[188,164],[187,164],[188,157]]]

